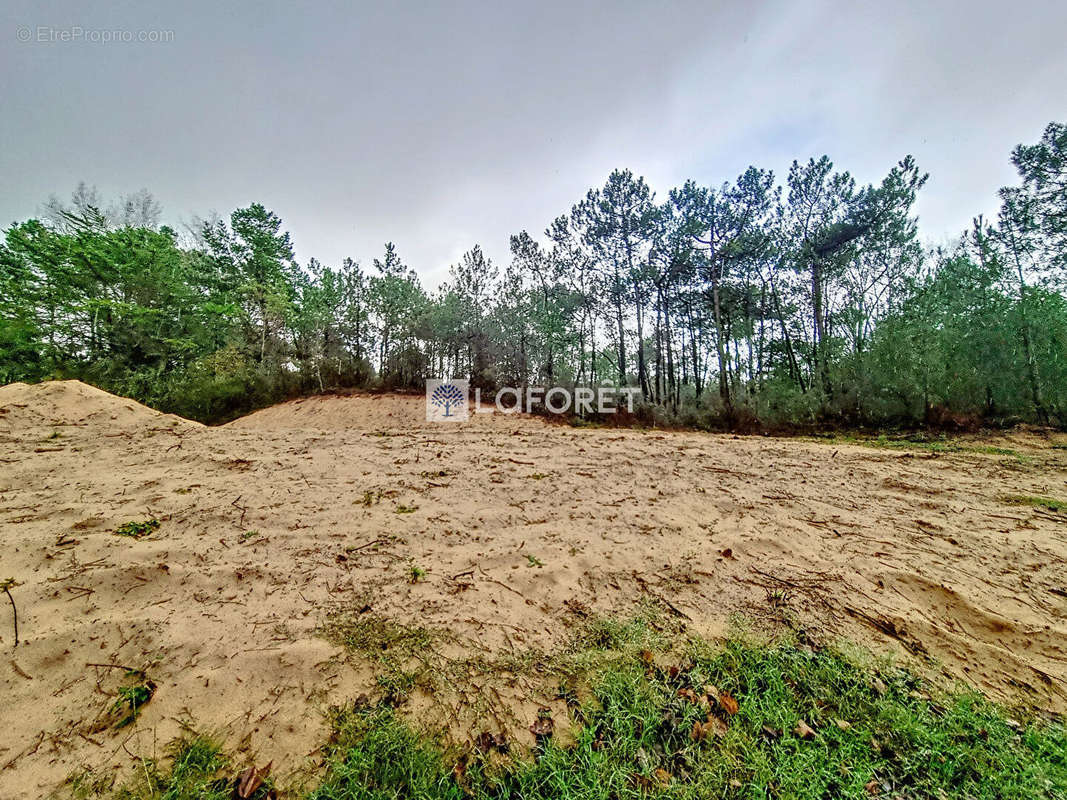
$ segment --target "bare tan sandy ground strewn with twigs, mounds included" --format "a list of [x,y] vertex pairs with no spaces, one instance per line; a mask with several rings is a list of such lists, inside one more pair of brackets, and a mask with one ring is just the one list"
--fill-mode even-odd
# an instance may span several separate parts
[[[786,615],[1067,710],[1067,513],[1005,500],[1067,498],[1049,437],[939,454],[423,409],[327,397],[206,428],[77,382],[0,388],[21,639],[0,596],[0,798],[129,768],[184,725],[283,774],[314,763],[323,709],[371,681],[316,635],[334,608],[485,652],[641,601],[707,635]],[[157,688],[116,730],[123,667]]]

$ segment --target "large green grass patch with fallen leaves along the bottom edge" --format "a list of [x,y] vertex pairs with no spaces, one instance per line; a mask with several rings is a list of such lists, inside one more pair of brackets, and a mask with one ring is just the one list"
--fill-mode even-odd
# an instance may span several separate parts
[[[607,633],[607,631],[605,631]],[[610,635],[610,634],[609,634]],[[695,643],[679,663],[616,662],[574,710],[575,740],[457,749],[383,706],[334,716],[310,800],[355,798],[1056,797],[1067,730],[832,650]]]

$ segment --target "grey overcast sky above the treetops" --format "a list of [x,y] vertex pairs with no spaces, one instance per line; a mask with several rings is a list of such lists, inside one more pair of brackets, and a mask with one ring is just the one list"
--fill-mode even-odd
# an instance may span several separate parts
[[[665,196],[824,153],[874,181],[910,153],[940,242],[1067,119],[1063,0],[152,5],[2,3],[4,227],[79,180],[146,187],[171,224],[260,202],[302,262],[393,240],[433,286],[617,166]],[[171,41],[86,41],[124,31]]]

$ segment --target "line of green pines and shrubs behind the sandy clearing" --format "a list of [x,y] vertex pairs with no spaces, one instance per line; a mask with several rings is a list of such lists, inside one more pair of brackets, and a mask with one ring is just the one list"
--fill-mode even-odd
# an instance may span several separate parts
[[996,220],[924,249],[911,157],[827,157],[657,196],[612,172],[499,269],[428,291],[387,243],[297,263],[260,204],[179,235],[78,187],[0,244],[0,382],[79,378],[206,421],[296,395],[633,385],[648,422],[1067,425],[1067,126],[1012,153]]

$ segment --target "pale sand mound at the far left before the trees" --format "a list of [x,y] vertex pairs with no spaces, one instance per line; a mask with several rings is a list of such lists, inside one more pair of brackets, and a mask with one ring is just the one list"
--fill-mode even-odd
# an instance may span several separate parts
[[99,433],[159,425],[196,425],[81,381],[0,386],[0,429],[93,427]]

